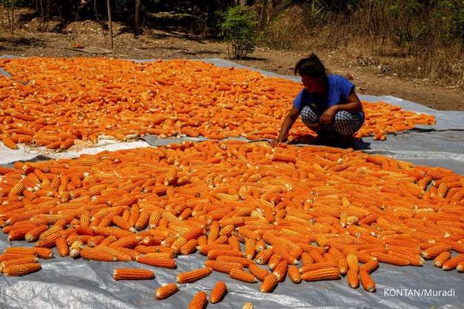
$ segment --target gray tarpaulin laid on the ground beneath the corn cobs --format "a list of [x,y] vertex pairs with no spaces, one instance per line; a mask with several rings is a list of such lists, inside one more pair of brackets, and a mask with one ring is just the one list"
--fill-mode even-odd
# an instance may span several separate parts
[[[216,65],[243,67],[221,59],[206,59]],[[251,68],[247,68],[251,69]],[[261,70],[257,70],[261,71]],[[1,72],[0,72],[1,73]],[[275,73],[261,71],[267,76]],[[297,80],[295,76],[279,76]],[[364,139],[359,148],[424,165],[440,165],[464,174],[464,115],[462,112],[434,111],[414,102],[394,97],[360,95],[362,100],[389,102],[404,109],[436,115],[437,126],[432,131],[416,131],[388,135],[386,141]],[[439,132],[440,131],[440,132]],[[152,145],[160,146],[182,139],[144,137]],[[186,138],[187,139],[187,138]],[[201,139],[188,139],[201,140]],[[0,234],[0,251],[10,246],[31,245],[8,242]],[[56,249],[54,249],[55,255]],[[346,278],[328,282],[293,284],[288,279],[279,284],[274,293],[259,293],[259,284],[246,284],[230,279],[223,273],[193,284],[182,284],[175,295],[155,300],[155,289],[175,282],[175,275],[199,268],[206,257],[195,253],[177,258],[177,269],[154,268],[136,262],[89,262],[82,259],[53,258],[41,260],[43,269],[25,277],[0,276],[0,308],[186,308],[199,290],[207,294],[217,281],[223,280],[228,294],[219,304],[208,308],[241,308],[251,301],[255,308],[463,308],[463,275],[445,272],[427,262],[421,267],[398,267],[380,264],[373,273],[377,293],[362,288],[353,290]],[[119,267],[149,268],[156,278],[145,281],[115,282],[111,274]],[[443,295],[445,291],[445,295]],[[440,294],[439,294],[440,293]]]

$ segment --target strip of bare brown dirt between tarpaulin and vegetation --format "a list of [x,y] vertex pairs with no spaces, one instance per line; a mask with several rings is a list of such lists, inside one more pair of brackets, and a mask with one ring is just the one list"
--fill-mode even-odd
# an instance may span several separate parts
[[[0,54],[16,56],[104,56],[112,58],[228,58],[228,45],[182,32],[149,30],[135,38],[124,27],[114,27],[114,49],[110,54],[88,54],[73,50],[76,44],[107,49],[108,38],[98,23],[72,23],[64,33],[16,30],[14,36],[0,32]],[[358,93],[394,95],[439,110],[464,111],[464,88],[432,84],[428,80],[399,78],[385,73],[378,65],[366,65],[353,53],[340,50],[316,50],[332,73],[346,76]],[[250,58],[234,60],[242,65],[292,74],[293,67],[309,51],[282,52],[258,47]]]

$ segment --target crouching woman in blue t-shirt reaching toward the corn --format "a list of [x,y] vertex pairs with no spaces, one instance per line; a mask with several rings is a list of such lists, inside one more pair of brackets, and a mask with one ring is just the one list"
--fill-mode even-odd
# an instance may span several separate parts
[[302,122],[318,133],[320,139],[335,139],[336,144],[353,143],[353,133],[364,122],[362,104],[355,85],[338,75],[327,75],[318,56],[311,54],[296,63],[294,73],[301,76],[305,88],[294,99],[293,106],[280,128],[274,147],[287,140],[291,126],[301,115]]

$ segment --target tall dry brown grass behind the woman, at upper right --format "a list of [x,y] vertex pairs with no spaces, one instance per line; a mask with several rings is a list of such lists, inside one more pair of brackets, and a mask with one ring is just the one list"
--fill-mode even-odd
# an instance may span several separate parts
[[[464,49],[462,42],[441,41],[441,36],[427,36],[398,43],[396,21],[384,16],[366,17],[357,12],[327,16],[313,23],[311,8],[291,6],[274,16],[265,27],[262,42],[275,49],[337,51],[346,56],[374,59],[363,64],[379,67],[382,73],[406,78],[427,79],[446,87],[464,87]],[[313,19],[312,19],[313,20]],[[376,23],[371,28],[366,25]],[[375,30],[372,30],[375,29]],[[441,29],[434,29],[440,34]]]

